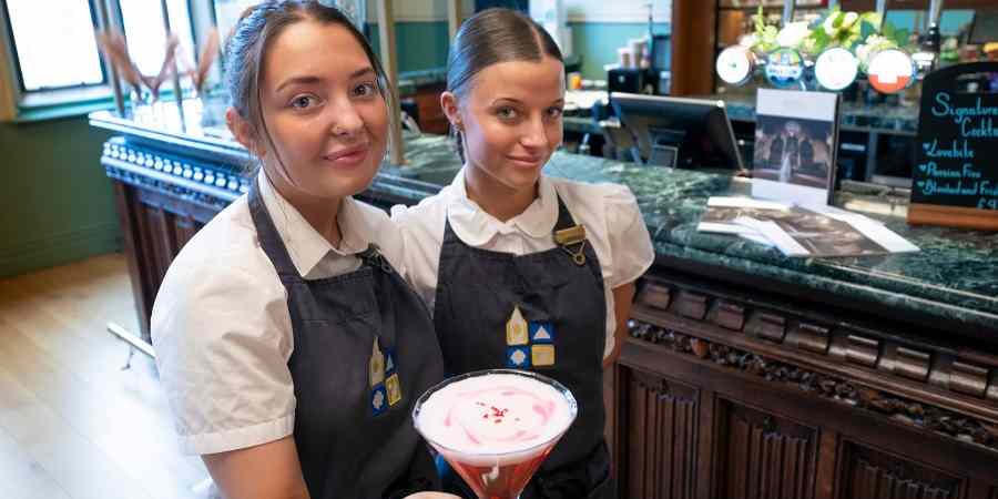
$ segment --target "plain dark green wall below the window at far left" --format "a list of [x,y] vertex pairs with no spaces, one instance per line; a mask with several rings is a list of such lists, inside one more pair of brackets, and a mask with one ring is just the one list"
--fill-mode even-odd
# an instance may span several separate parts
[[121,247],[111,182],[99,163],[108,136],[82,116],[0,123],[0,277]]

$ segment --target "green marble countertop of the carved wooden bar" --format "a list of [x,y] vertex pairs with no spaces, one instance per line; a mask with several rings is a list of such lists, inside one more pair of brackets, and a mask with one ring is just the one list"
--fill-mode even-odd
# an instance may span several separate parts
[[[192,105],[187,126],[179,120],[129,120],[108,112],[91,114],[94,126],[196,149],[220,162],[240,163],[245,151]],[[202,126],[200,123],[213,123]],[[224,125],[223,125],[224,126]],[[220,131],[221,130],[221,131]],[[438,135],[406,135],[405,166],[385,165],[370,187],[374,197],[416,203],[448,184],[459,170],[451,142]],[[825,292],[889,309],[917,312],[947,330],[975,326],[998,332],[998,233],[946,227],[912,227],[906,200],[886,195],[839,194],[836,204],[883,221],[921,248],[918,253],[849,258],[788,258],[777,249],[735,236],[700,233],[696,223],[713,195],[748,191],[747,181],[727,175],[645,167],[632,163],[558,152],[546,172],[584,182],[630,186],[638,198],[660,259],[681,258],[750,277]]]

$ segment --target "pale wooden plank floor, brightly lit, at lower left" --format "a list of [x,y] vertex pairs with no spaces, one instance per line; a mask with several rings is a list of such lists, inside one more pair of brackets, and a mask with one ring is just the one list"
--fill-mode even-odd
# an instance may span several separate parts
[[138,332],[124,258],[0,281],[0,498],[197,498],[207,473],[180,454]]

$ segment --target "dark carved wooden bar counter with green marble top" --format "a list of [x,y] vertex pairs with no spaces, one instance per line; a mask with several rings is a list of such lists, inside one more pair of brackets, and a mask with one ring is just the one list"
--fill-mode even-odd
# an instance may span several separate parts
[[[245,151],[197,123],[91,115],[136,312],[170,262],[245,192]],[[406,139],[363,196],[415,203],[457,172],[449,142]],[[841,194],[921,252],[792,259],[697,233],[743,180],[557,153],[548,173],[627,184],[654,240],[608,425],[622,498],[998,499],[998,234],[908,227],[905,200]]]

